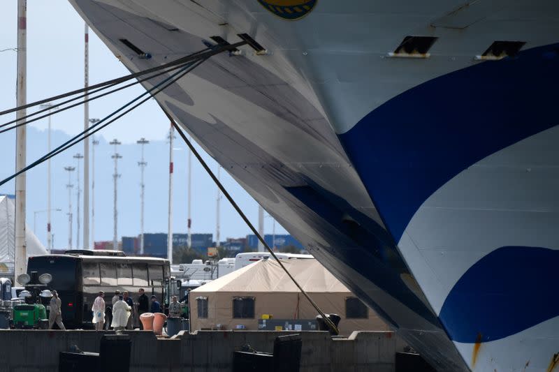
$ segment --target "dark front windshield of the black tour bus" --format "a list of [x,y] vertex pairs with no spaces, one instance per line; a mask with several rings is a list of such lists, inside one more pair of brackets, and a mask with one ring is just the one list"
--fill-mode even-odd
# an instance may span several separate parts
[[64,256],[36,256],[29,258],[27,273],[37,271],[39,275],[52,275],[52,282],[48,287],[53,290],[75,290],[76,288],[76,264],[78,260],[74,257]]

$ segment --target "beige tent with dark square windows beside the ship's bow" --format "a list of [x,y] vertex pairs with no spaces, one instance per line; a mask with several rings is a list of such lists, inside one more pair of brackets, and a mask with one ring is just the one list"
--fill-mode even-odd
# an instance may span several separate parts
[[[290,260],[283,264],[322,311],[342,317],[340,334],[388,330],[374,311],[356,299],[317,260]],[[247,297],[247,308],[239,302],[233,305],[239,298]],[[190,292],[189,303],[192,330],[217,329],[218,325],[221,329],[244,325],[246,329],[257,330],[263,314],[282,320],[314,319],[317,315],[310,302],[271,259],[260,260],[196,288]]]

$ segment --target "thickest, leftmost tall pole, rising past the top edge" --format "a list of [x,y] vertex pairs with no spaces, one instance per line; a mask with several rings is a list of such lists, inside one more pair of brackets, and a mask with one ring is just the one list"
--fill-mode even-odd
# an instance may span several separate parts
[[[17,0],[17,81],[16,104],[27,103],[27,0]],[[19,110],[16,119],[26,116],[26,110]],[[26,163],[27,129],[24,121],[15,133],[15,171],[19,172]],[[27,271],[27,243],[25,241],[25,173],[15,177],[15,258],[14,276]]]

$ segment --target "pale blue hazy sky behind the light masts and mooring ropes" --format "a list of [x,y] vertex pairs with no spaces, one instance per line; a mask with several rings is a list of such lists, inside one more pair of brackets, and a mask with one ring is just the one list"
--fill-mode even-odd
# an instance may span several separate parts
[[[0,110],[15,107],[15,72],[17,54],[12,48],[17,46],[17,1],[4,0],[0,5]],[[27,101],[37,101],[41,98],[61,94],[65,91],[83,87],[83,31],[84,22],[66,0],[28,0],[27,1]],[[89,31],[89,84],[102,82],[114,77],[126,75],[128,70],[112,55],[108,48],[101,43],[92,30]],[[110,96],[108,99],[94,101],[89,105],[90,117],[104,117],[123,103],[130,101],[143,92],[142,87],[132,87]],[[31,109],[34,110],[34,109]],[[32,111],[29,112],[32,112]],[[29,113],[28,112],[28,113]],[[9,115],[0,117],[1,123],[13,119]],[[27,162],[46,152],[46,119],[30,124],[36,131],[28,135]],[[165,177],[168,169],[168,150],[165,151],[168,135],[168,120],[157,104],[150,100],[138,107],[126,117],[111,124],[98,134],[101,144],[97,149],[96,172],[96,240],[112,239],[112,168],[110,153],[112,148],[106,144],[113,138],[118,138],[123,144],[124,158],[121,162],[122,178],[119,181],[121,193],[119,195],[119,235],[136,235],[139,231],[138,198],[139,198],[139,160],[140,150],[136,140],[145,137],[152,141],[149,146],[152,151],[147,152],[146,195],[146,232],[166,232],[167,230],[167,190],[168,181]],[[76,107],[52,117],[54,130],[53,147],[75,135],[83,129],[83,109]],[[13,133],[3,133],[0,144],[13,144]],[[6,142],[7,141],[7,142]],[[180,137],[175,142],[175,232],[185,232],[186,210],[186,156],[187,151]],[[127,146],[126,146],[127,145]],[[156,149],[159,149],[156,151]],[[68,194],[65,185],[68,183],[64,166],[75,165],[72,154],[82,152],[82,144],[68,150],[68,154],[61,154],[52,160],[53,174],[53,208],[61,208],[61,212],[53,212],[53,232],[55,246],[63,247],[68,241]],[[0,178],[10,175],[15,169],[15,150],[9,145],[0,149]],[[151,158],[150,158],[151,156]],[[205,156],[213,170],[217,170],[217,163],[209,156]],[[193,158],[194,160],[194,158]],[[46,166],[34,168],[27,177],[28,206],[27,223],[33,225],[34,216],[38,226],[45,225],[45,214],[34,213],[46,209],[45,177]],[[32,174],[31,174],[32,173]],[[193,231],[213,232],[215,234],[215,199],[217,189],[210,178],[203,173],[200,165],[193,161],[195,175],[193,195]],[[73,175],[75,177],[75,174]],[[238,199],[246,209],[253,223],[257,222],[257,204],[231,177],[222,172],[222,179],[231,188],[233,197]],[[154,181],[157,180],[157,181]],[[75,180],[74,180],[75,181]],[[74,182],[75,183],[75,182]],[[124,190],[124,195],[122,193]],[[75,190],[73,190],[73,209],[75,214]],[[0,193],[14,193],[13,182],[0,187]],[[73,225],[75,235],[75,222]],[[46,243],[46,234],[37,229],[39,239]],[[44,230],[44,229],[43,229]],[[272,220],[266,218],[266,232],[272,231]],[[249,232],[245,224],[235,215],[226,200],[222,200],[222,239],[225,237],[242,237]],[[285,230],[276,225],[276,233]],[[75,244],[75,243],[74,243]]]

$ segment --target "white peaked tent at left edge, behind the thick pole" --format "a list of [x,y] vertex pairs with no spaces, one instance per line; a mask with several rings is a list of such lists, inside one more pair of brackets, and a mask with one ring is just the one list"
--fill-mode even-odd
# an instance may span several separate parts
[[[8,195],[0,195],[0,272],[13,273],[15,252],[15,204]],[[25,224],[27,258],[45,255],[47,250]]]

